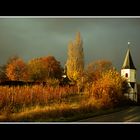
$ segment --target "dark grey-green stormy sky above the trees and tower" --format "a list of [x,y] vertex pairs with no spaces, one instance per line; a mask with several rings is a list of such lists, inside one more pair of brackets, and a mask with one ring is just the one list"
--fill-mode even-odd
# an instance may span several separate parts
[[85,63],[98,59],[112,61],[120,70],[127,42],[140,81],[140,18],[0,18],[0,65],[10,56],[25,61],[53,55],[62,64],[67,46],[80,31]]

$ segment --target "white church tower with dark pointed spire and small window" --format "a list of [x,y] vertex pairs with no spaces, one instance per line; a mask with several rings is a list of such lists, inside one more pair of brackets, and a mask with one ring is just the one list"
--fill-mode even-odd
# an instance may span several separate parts
[[134,66],[129,48],[121,69],[121,76],[126,78],[128,86],[130,87],[128,93],[125,93],[125,95],[132,101],[137,102],[136,67]]

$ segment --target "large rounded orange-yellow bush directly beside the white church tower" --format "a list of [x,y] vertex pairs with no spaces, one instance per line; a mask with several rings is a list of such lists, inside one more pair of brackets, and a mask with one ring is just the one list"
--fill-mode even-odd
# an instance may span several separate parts
[[98,79],[88,89],[89,96],[98,100],[101,107],[114,107],[124,104],[124,93],[129,90],[127,81],[116,70],[106,71],[102,78]]

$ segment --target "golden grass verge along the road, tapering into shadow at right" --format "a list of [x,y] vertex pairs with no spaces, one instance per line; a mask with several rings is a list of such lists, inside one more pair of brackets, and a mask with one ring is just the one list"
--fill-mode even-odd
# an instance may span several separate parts
[[[101,114],[119,111],[115,109],[98,109],[94,103],[59,103],[51,106],[34,106],[24,108],[19,113],[0,116],[0,121],[9,122],[66,122],[93,117]],[[97,106],[97,105],[96,105]]]

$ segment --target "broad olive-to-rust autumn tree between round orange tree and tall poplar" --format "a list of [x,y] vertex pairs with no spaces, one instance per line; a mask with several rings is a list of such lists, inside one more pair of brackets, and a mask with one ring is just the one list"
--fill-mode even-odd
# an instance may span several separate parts
[[29,61],[28,70],[30,80],[46,81],[47,79],[59,79],[62,75],[60,62],[53,56],[35,58]]

